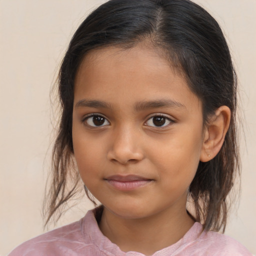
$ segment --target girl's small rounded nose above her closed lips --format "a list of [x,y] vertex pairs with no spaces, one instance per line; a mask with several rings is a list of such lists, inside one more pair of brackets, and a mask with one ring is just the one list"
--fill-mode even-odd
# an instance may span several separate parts
[[113,131],[111,146],[107,153],[110,161],[121,164],[135,163],[144,158],[140,134],[132,128]]

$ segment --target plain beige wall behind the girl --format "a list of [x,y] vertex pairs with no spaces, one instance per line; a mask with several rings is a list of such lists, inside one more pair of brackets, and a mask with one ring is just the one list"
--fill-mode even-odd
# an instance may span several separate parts
[[[50,86],[73,31],[100,2],[0,0],[0,255],[43,232],[45,154],[52,140]],[[255,254],[256,1],[196,2],[220,22],[237,67],[247,144],[242,140],[240,203],[226,234]],[[90,207],[83,198],[58,225],[78,219]]]

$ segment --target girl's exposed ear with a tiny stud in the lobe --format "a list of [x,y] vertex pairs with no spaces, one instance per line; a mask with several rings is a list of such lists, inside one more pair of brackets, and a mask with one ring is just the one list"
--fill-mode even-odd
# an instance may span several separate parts
[[230,109],[220,106],[210,118],[204,130],[200,161],[207,162],[219,152],[230,122]]

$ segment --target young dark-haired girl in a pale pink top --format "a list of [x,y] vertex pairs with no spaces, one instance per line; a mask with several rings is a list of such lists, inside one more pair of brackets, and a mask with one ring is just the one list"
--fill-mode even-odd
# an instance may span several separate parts
[[239,170],[236,76],[189,0],[110,0],[73,35],[46,222],[80,179],[101,205],[9,255],[251,255],[215,231]]

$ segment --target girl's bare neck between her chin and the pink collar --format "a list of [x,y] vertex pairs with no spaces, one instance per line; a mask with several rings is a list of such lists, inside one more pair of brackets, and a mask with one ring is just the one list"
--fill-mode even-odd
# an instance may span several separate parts
[[104,207],[99,228],[122,251],[151,255],[181,239],[193,223],[185,207],[138,219],[121,218]]

